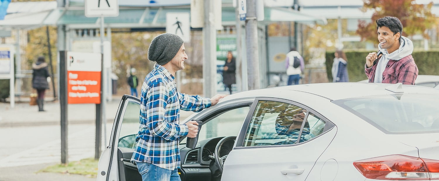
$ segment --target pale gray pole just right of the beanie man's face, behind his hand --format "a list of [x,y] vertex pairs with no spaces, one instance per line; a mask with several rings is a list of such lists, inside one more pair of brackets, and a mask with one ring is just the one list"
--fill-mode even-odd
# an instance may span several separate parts
[[215,3],[210,0],[204,1],[203,94],[208,98],[216,94],[216,30],[213,13],[214,4]]

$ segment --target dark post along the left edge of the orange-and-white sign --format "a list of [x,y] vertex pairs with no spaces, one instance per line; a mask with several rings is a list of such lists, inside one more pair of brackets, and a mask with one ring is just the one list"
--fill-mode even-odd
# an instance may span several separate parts
[[68,163],[67,144],[67,64],[66,51],[59,51],[59,103],[61,107],[61,163]]

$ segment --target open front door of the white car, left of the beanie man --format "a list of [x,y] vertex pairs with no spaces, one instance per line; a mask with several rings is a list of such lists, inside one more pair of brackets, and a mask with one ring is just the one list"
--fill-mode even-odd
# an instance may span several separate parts
[[140,99],[123,95],[113,123],[110,142],[101,154],[97,181],[142,181],[130,162],[139,130]]

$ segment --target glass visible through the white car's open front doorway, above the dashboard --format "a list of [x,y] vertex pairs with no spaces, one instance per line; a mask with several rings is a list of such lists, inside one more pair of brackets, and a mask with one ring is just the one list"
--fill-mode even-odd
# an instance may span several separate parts
[[[204,123],[198,133],[198,141],[220,136],[237,136],[249,109],[248,106],[232,109]],[[182,143],[186,143],[186,139],[180,142]]]

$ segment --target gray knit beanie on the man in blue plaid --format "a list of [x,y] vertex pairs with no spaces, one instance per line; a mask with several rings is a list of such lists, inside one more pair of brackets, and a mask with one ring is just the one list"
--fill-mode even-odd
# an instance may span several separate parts
[[180,36],[163,33],[152,40],[148,49],[148,59],[157,62],[158,65],[165,65],[175,57],[181,45],[183,40]]

